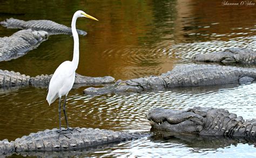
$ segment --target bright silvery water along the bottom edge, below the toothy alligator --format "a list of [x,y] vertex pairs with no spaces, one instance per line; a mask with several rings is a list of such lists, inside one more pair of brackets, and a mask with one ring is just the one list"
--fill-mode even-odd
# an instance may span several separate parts
[[[159,132],[159,131],[158,131]],[[255,154],[255,139],[224,138],[217,136],[199,136],[193,134],[154,133],[149,138],[142,138],[132,142],[121,143],[117,147],[105,149],[100,152],[90,153],[90,156],[157,156],[157,157],[187,157],[229,156],[233,153],[244,156],[241,150]],[[131,148],[132,147],[132,148]],[[232,148],[238,150],[233,151]],[[150,150],[146,150],[150,148]]]

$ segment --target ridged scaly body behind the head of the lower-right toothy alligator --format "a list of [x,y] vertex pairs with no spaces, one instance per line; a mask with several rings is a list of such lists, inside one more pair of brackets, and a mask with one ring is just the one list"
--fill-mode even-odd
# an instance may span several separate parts
[[256,119],[245,121],[242,116],[237,116],[221,108],[194,107],[188,112],[199,114],[206,112],[204,127],[201,135],[228,135],[256,138]]

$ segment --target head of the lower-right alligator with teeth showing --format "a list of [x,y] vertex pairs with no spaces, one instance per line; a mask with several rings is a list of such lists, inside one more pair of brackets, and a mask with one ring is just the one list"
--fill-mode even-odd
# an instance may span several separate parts
[[206,113],[180,111],[175,109],[153,108],[147,119],[153,128],[179,133],[199,133],[204,126]]

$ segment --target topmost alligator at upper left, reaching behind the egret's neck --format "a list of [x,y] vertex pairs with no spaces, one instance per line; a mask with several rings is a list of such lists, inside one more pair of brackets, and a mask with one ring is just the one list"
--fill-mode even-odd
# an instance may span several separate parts
[[[43,30],[49,33],[49,35],[57,34],[66,34],[72,35],[71,28],[55,23],[51,20],[19,20],[14,18],[5,19],[3,22],[0,22],[2,26],[5,26],[8,29],[32,29],[32,30]],[[85,36],[87,33],[83,30],[78,30],[79,35]]]

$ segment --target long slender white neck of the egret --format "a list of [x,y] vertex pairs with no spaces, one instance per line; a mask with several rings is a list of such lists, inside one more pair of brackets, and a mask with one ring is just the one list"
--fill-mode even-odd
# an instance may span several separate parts
[[76,30],[76,21],[77,21],[77,16],[74,15],[71,23],[72,35],[74,38],[74,53],[73,53],[72,63],[75,65],[75,68],[77,69],[78,61],[79,61],[79,38]]

